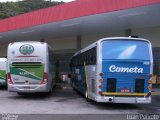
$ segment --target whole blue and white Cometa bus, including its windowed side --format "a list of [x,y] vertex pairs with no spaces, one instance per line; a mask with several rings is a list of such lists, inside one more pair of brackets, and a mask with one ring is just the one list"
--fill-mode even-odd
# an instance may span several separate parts
[[151,103],[151,43],[132,37],[103,38],[71,58],[71,85],[86,100]]

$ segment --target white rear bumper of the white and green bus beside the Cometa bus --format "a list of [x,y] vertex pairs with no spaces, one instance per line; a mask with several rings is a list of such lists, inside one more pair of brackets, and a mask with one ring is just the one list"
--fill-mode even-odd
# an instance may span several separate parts
[[35,93],[35,92],[49,92],[47,84],[42,85],[11,85],[8,84],[9,92],[20,92],[20,93]]

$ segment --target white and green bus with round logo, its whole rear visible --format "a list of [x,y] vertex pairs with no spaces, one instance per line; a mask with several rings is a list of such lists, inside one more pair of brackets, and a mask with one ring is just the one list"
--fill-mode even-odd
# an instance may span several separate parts
[[8,91],[51,93],[55,86],[52,55],[52,50],[44,42],[10,43],[7,51]]

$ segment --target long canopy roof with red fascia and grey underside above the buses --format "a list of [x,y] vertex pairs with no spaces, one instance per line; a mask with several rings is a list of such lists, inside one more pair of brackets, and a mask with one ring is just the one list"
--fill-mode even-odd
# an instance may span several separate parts
[[77,0],[0,20],[0,42],[160,26],[160,0]]

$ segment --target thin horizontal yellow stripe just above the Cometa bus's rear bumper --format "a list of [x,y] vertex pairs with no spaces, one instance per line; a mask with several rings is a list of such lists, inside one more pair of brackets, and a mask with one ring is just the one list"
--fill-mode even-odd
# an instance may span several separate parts
[[102,95],[122,95],[122,96],[146,96],[146,93],[120,93],[120,92],[103,92]]

